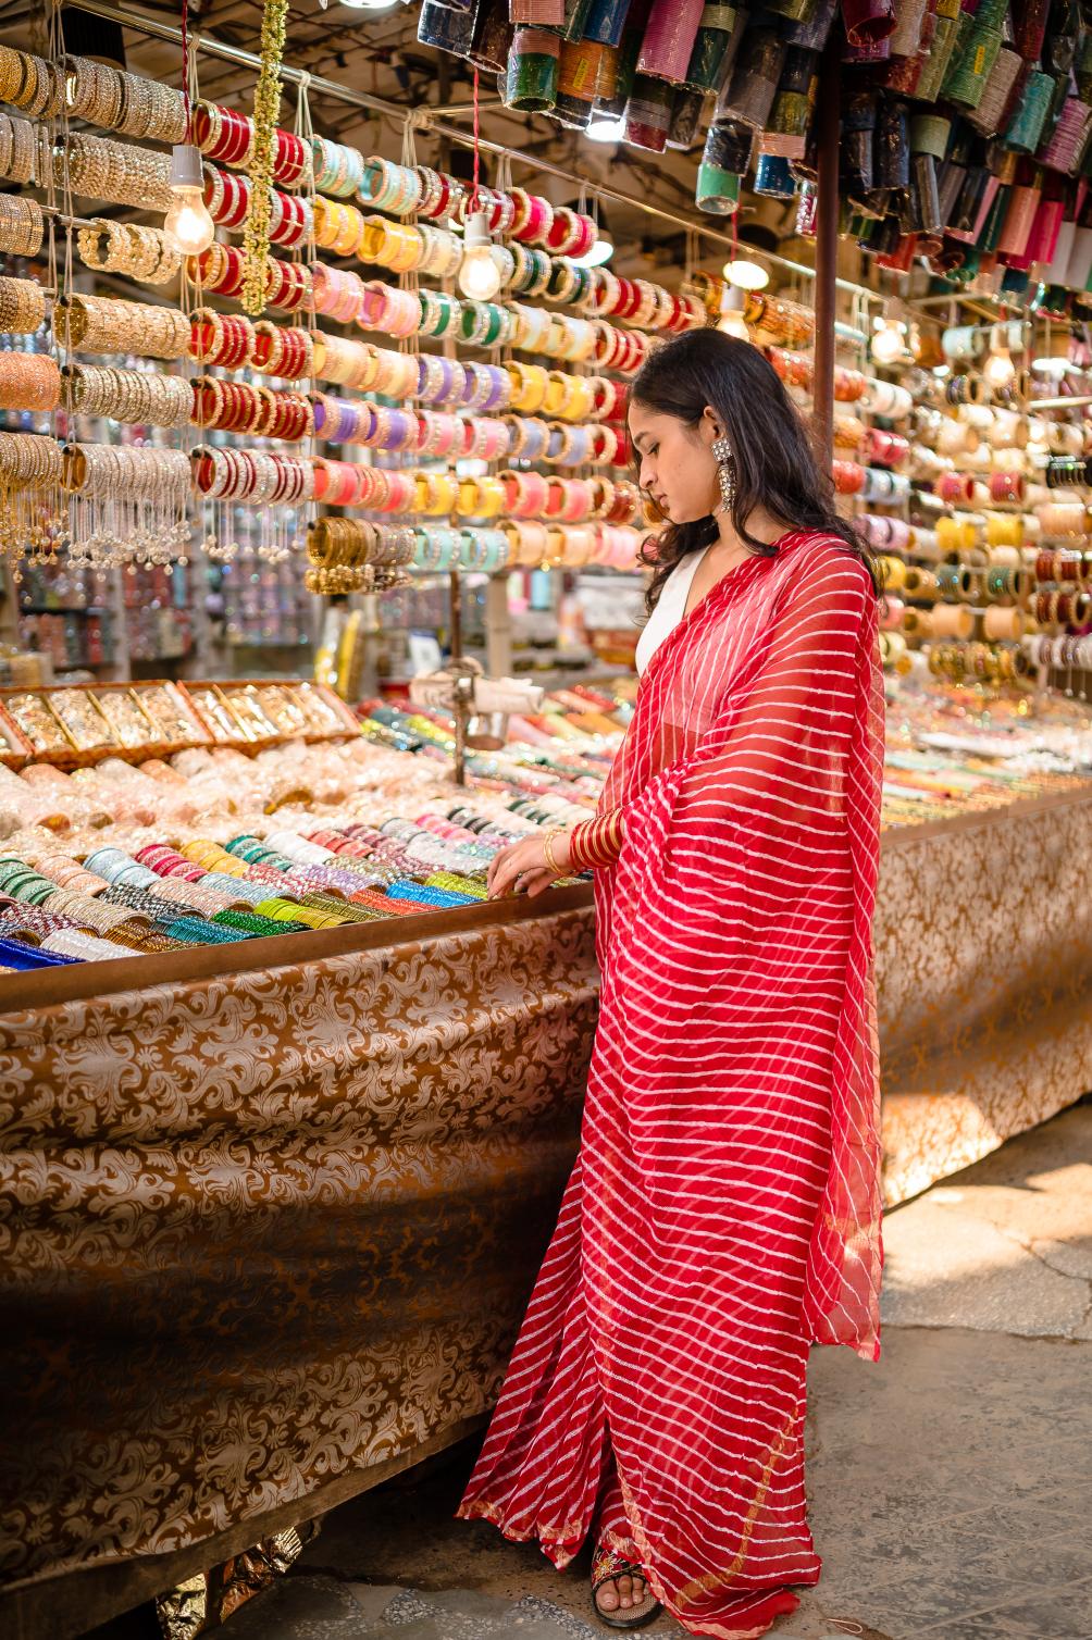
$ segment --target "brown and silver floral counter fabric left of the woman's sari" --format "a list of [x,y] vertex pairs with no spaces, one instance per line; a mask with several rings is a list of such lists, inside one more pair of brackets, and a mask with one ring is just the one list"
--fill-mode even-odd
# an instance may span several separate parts
[[3,1583],[180,1548],[485,1410],[595,1007],[566,912],[0,1015]]

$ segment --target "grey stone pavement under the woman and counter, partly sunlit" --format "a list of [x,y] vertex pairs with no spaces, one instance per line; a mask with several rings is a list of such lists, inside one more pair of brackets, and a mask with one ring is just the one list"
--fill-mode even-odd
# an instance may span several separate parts
[[[880,1363],[812,1351],[823,1578],[771,1635],[1092,1640],[1092,1102],[890,1212],[885,1250]],[[603,1640],[585,1558],[451,1519],[471,1460],[331,1512],[225,1640]]]

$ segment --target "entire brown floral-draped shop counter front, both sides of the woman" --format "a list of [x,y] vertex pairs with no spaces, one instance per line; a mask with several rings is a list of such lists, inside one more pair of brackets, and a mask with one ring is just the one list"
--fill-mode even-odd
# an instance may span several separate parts
[[[884,1199],[1089,1087],[1092,790],[889,830]],[[590,887],[0,981],[0,1632],[475,1428],[572,1163]]]

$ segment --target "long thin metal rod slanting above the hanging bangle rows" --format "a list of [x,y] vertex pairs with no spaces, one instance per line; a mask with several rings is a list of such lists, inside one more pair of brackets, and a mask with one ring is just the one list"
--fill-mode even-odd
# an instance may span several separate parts
[[[130,11],[125,7],[111,5],[110,0],[80,0],[80,10],[90,11],[93,16],[107,18],[110,23],[118,23],[121,28],[131,28],[138,34],[151,34],[156,39],[169,39],[182,44],[182,31],[174,26],[174,23],[161,23],[157,18],[148,16],[139,11]],[[243,51],[239,46],[228,46],[220,39],[213,39],[210,34],[190,33],[190,46],[195,51],[205,51],[212,57],[221,57],[225,62],[234,62],[244,69],[257,69],[261,66],[259,57],[251,51]],[[307,85],[308,90],[318,92],[321,97],[334,97],[339,102],[351,103],[356,108],[366,108],[369,113],[389,115],[395,121],[413,121],[420,130],[436,131],[439,136],[446,136],[454,143],[462,143],[467,148],[474,146],[474,134],[464,131],[457,125],[451,125],[446,120],[435,118],[428,108],[405,108],[398,103],[384,102],[382,97],[369,97],[367,92],[357,92],[351,85],[341,85],[338,80],[326,80],[320,74],[308,74],[307,69],[293,69],[284,64],[280,69],[280,77],[292,82],[293,85]],[[533,154],[525,154],[518,148],[505,148],[503,143],[490,143],[479,136],[477,146],[482,153],[507,156],[520,166],[528,166],[531,171],[546,172],[551,177],[557,177],[561,182],[571,182],[574,189],[587,187],[587,177],[579,177],[572,171],[566,171],[562,166],[554,166],[548,159],[538,159]],[[595,182],[592,184],[592,192],[603,200],[613,200],[618,205],[628,205],[633,210],[644,212],[646,216],[656,216],[659,221],[667,221],[672,228],[680,228],[685,233],[697,233],[703,239],[710,239],[715,244],[723,244],[730,251],[736,251],[736,243],[726,235],[718,233],[715,228],[707,228],[703,223],[694,223],[689,216],[680,216],[676,212],[664,210],[661,205],[649,205],[648,200],[639,198],[636,194],[625,194],[621,189],[610,187],[610,184]],[[774,251],[761,251],[749,246],[748,251],[758,256],[761,261],[769,262],[772,267],[782,267],[789,274],[795,274],[800,279],[815,279],[815,269],[807,267],[803,262],[790,262],[784,256],[777,256]],[[835,285],[838,290],[848,290],[851,295],[864,297],[867,302],[877,305],[884,303],[884,297],[876,290],[867,290],[866,285],[856,285],[849,279],[836,279]]]

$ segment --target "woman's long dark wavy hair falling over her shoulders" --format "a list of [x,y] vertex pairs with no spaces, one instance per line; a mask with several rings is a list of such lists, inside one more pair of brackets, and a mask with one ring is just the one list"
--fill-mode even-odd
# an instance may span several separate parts
[[[879,572],[864,540],[835,512],[835,485],[820,469],[803,421],[772,364],[749,341],[720,330],[692,330],[657,348],[635,377],[631,399],[697,428],[705,405],[723,423],[736,467],[731,523],[741,541],[764,558],[777,549],[748,531],[748,518],[764,507],[790,530],[836,535],[859,558],[879,592]],[[644,595],[651,615],[667,576],[689,553],[717,540],[710,515],[669,523],[641,548],[654,574]]]

